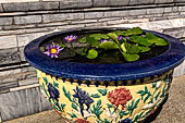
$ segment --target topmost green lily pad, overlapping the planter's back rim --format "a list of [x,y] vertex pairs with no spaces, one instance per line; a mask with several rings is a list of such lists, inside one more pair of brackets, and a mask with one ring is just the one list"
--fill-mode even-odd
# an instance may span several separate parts
[[139,27],[134,27],[124,32],[123,35],[131,36],[131,35],[140,35],[140,34],[143,34],[143,30]]

